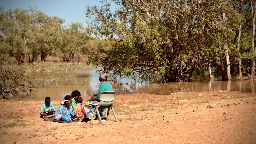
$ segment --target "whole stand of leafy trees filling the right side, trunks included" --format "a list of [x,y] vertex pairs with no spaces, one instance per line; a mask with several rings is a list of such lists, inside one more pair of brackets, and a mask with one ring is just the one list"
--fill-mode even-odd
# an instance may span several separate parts
[[254,80],[255,14],[252,0],[105,1],[88,6],[86,16],[94,18],[94,34],[113,45],[99,47],[88,63],[151,82],[196,80],[212,72],[223,80]]

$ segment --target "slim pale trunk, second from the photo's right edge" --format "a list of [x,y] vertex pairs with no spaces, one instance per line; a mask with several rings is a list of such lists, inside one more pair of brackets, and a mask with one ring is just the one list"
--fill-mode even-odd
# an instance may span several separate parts
[[[243,3],[244,0],[240,0],[240,15],[242,15],[243,12]],[[241,29],[242,29],[242,22],[240,21],[239,24],[239,29],[238,29],[238,39],[237,39],[237,52],[238,52],[238,77],[236,78],[237,80],[241,80],[242,79],[242,62],[241,62],[241,58],[240,58],[240,39],[241,39]]]

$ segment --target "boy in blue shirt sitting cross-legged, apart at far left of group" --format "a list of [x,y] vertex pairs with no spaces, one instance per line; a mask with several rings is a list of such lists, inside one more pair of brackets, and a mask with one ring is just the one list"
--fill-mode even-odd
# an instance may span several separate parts
[[53,103],[51,102],[50,97],[45,98],[45,102],[41,105],[41,118],[51,118],[54,117],[55,111],[54,111]]

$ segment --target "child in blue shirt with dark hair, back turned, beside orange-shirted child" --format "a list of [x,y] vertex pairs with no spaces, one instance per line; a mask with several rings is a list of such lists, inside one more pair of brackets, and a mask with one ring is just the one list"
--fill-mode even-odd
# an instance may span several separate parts
[[64,101],[64,108],[61,112],[61,121],[72,121],[74,117],[75,117],[75,113],[70,108],[70,102]]

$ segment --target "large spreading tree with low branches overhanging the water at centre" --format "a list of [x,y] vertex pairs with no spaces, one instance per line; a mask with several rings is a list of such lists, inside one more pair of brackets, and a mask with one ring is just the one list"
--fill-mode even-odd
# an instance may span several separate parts
[[[89,63],[113,75],[154,81],[188,81],[208,69],[212,43],[208,31],[219,20],[222,1],[112,0],[87,7],[94,34],[113,40],[110,50],[99,48]],[[206,56],[207,55],[207,56]],[[206,65],[206,67],[204,67]],[[162,79],[157,79],[156,75]]]

